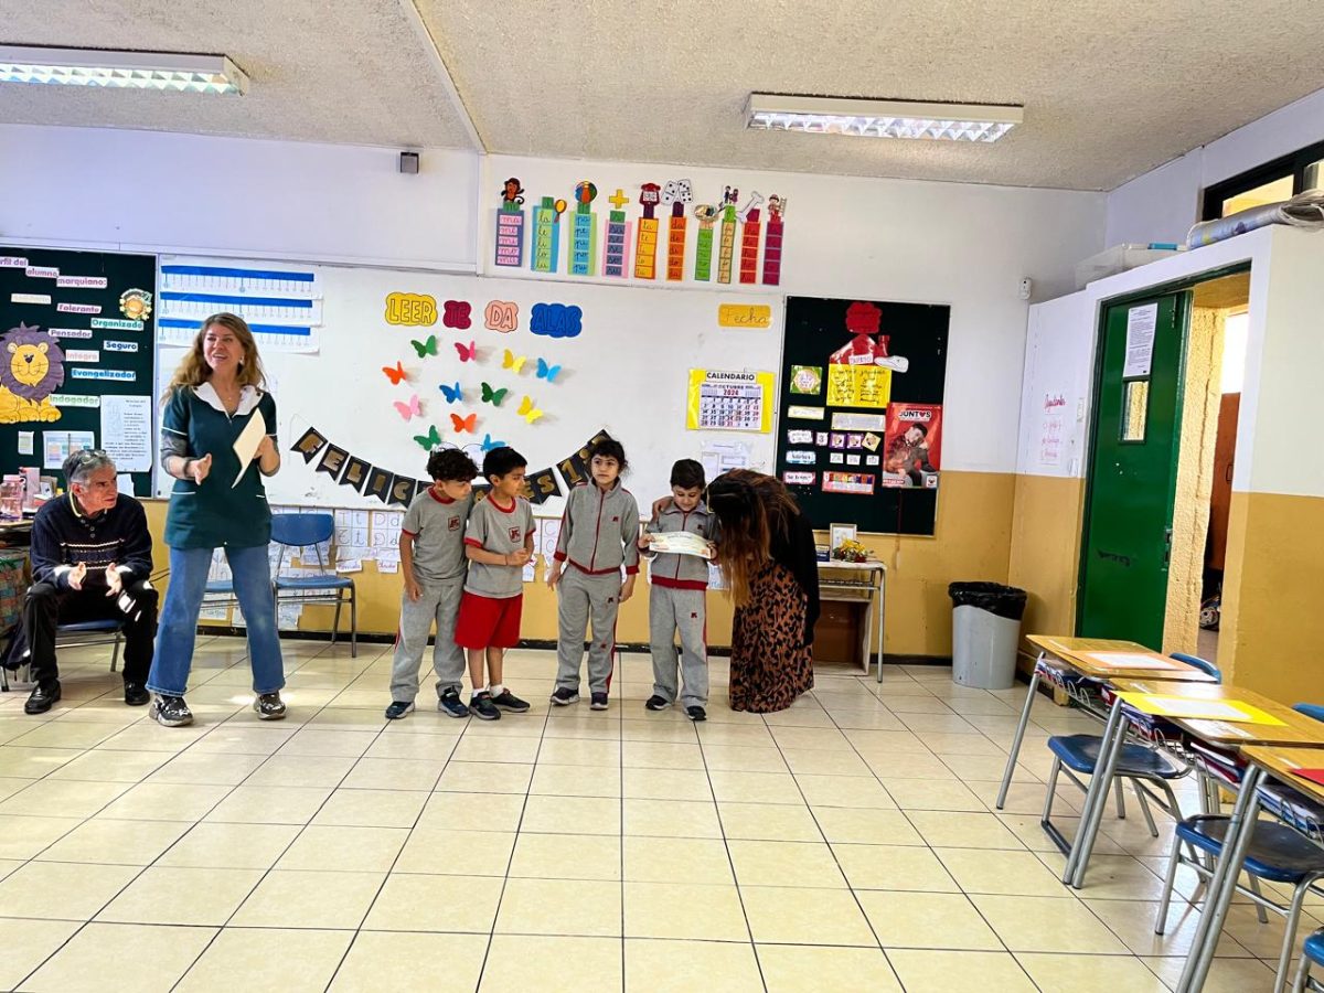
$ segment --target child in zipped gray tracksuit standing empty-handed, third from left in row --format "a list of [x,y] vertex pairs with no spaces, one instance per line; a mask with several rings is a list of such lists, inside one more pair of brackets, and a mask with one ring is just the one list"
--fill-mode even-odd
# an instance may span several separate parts
[[[616,612],[634,594],[639,571],[639,507],[621,486],[625,449],[614,438],[593,446],[588,469],[592,483],[571,490],[561,518],[556,555],[547,585],[560,585],[556,645],[556,688],[552,703],[565,707],[579,700],[584,633],[592,621],[588,650],[588,686],[593,710],[606,710],[616,649]],[[569,563],[561,575],[563,563]],[[625,583],[621,583],[621,567]]]

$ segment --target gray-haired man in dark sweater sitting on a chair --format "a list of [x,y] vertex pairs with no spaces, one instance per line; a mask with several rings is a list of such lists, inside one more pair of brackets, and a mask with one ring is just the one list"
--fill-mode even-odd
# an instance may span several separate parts
[[156,637],[147,515],[118,491],[115,463],[105,451],[75,451],[64,470],[69,493],[46,503],[32,522],[36,581],[23,605],[23,636],[36,688],[24,711],[45,714],[60,699],[56,628],[101,620],[124,625],[124,703],[138,707],[150,698],[144,685]]

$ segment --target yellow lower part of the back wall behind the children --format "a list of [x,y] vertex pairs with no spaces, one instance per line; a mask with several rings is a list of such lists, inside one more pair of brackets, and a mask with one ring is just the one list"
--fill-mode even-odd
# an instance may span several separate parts
[[[937,500],[937,538],[866,535],[862,542],[887,563],[886,651],[907,655],[951,655],[952,609],[947,584],[953,580],[1006,581],[1012,547],[1012,504],[1014,477],[1010,473],[943,471]],[[166,502],[144,500],[147,519],[156,543],[156,564],[168,565],[168,549],[162,540]],[[826,535],[820,535],[826,543]],[[523,637],[556,638],[556,596],[542,583],[524,587]],[[354,573],[359,591],[359,630],[391,634],[400,613],[400,576],[377,572],[365,561]],[[722,593],[708,594],[708,641],[714,646],[731,643],[731,602]],[[307,608],[301,621],[305,630],[330,630],[330,608]],[[348,630],[348,618],[342,618]],[[647,587],[639,579],[636,596],[621,608],[617,641],[646,642]],[[875,649],[876,650],[876,649]]]

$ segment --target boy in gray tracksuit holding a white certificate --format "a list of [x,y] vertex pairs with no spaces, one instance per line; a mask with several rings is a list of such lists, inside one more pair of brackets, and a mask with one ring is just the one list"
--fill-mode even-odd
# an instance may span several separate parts
[[688,531],[712,545],[714,518],[703,504],[703,466],[682,458],[671,466],[671,500],[659,508],[639,535],[639,548],[649,560],[649,638],[653,647],[653,695],[647,710],[666,710],[677,700],[675,633],[681,632],[681,703],[690,720],[707,720],[708,560],[698,555],[649,552],[654,535]]

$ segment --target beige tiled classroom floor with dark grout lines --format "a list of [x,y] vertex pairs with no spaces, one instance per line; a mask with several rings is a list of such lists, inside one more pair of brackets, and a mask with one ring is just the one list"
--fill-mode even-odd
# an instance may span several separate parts
[[[602,714],[549,711],[552,657],[515,653],[528,715],[457,722],[425,687],[388,723],[384,646],[285,650],[279,724],[236,639],[200,645],[192,728],[120,706],[90,649],[49,715],[0,698],[0,989],[1148,993],[1181,972],[1194,912],[1152,927],[1166,825],[1110,812],[1086,888],[1058,882],[1043,741],[1091,722],[1041,700],[993,809],[1023,687],[826,670],[764,718],[727,710],[719,659],[695,726],[643,711],[646,657]],[[1227,932],[1209,989],[1267,989],[1282,925],[1234,907]]]

